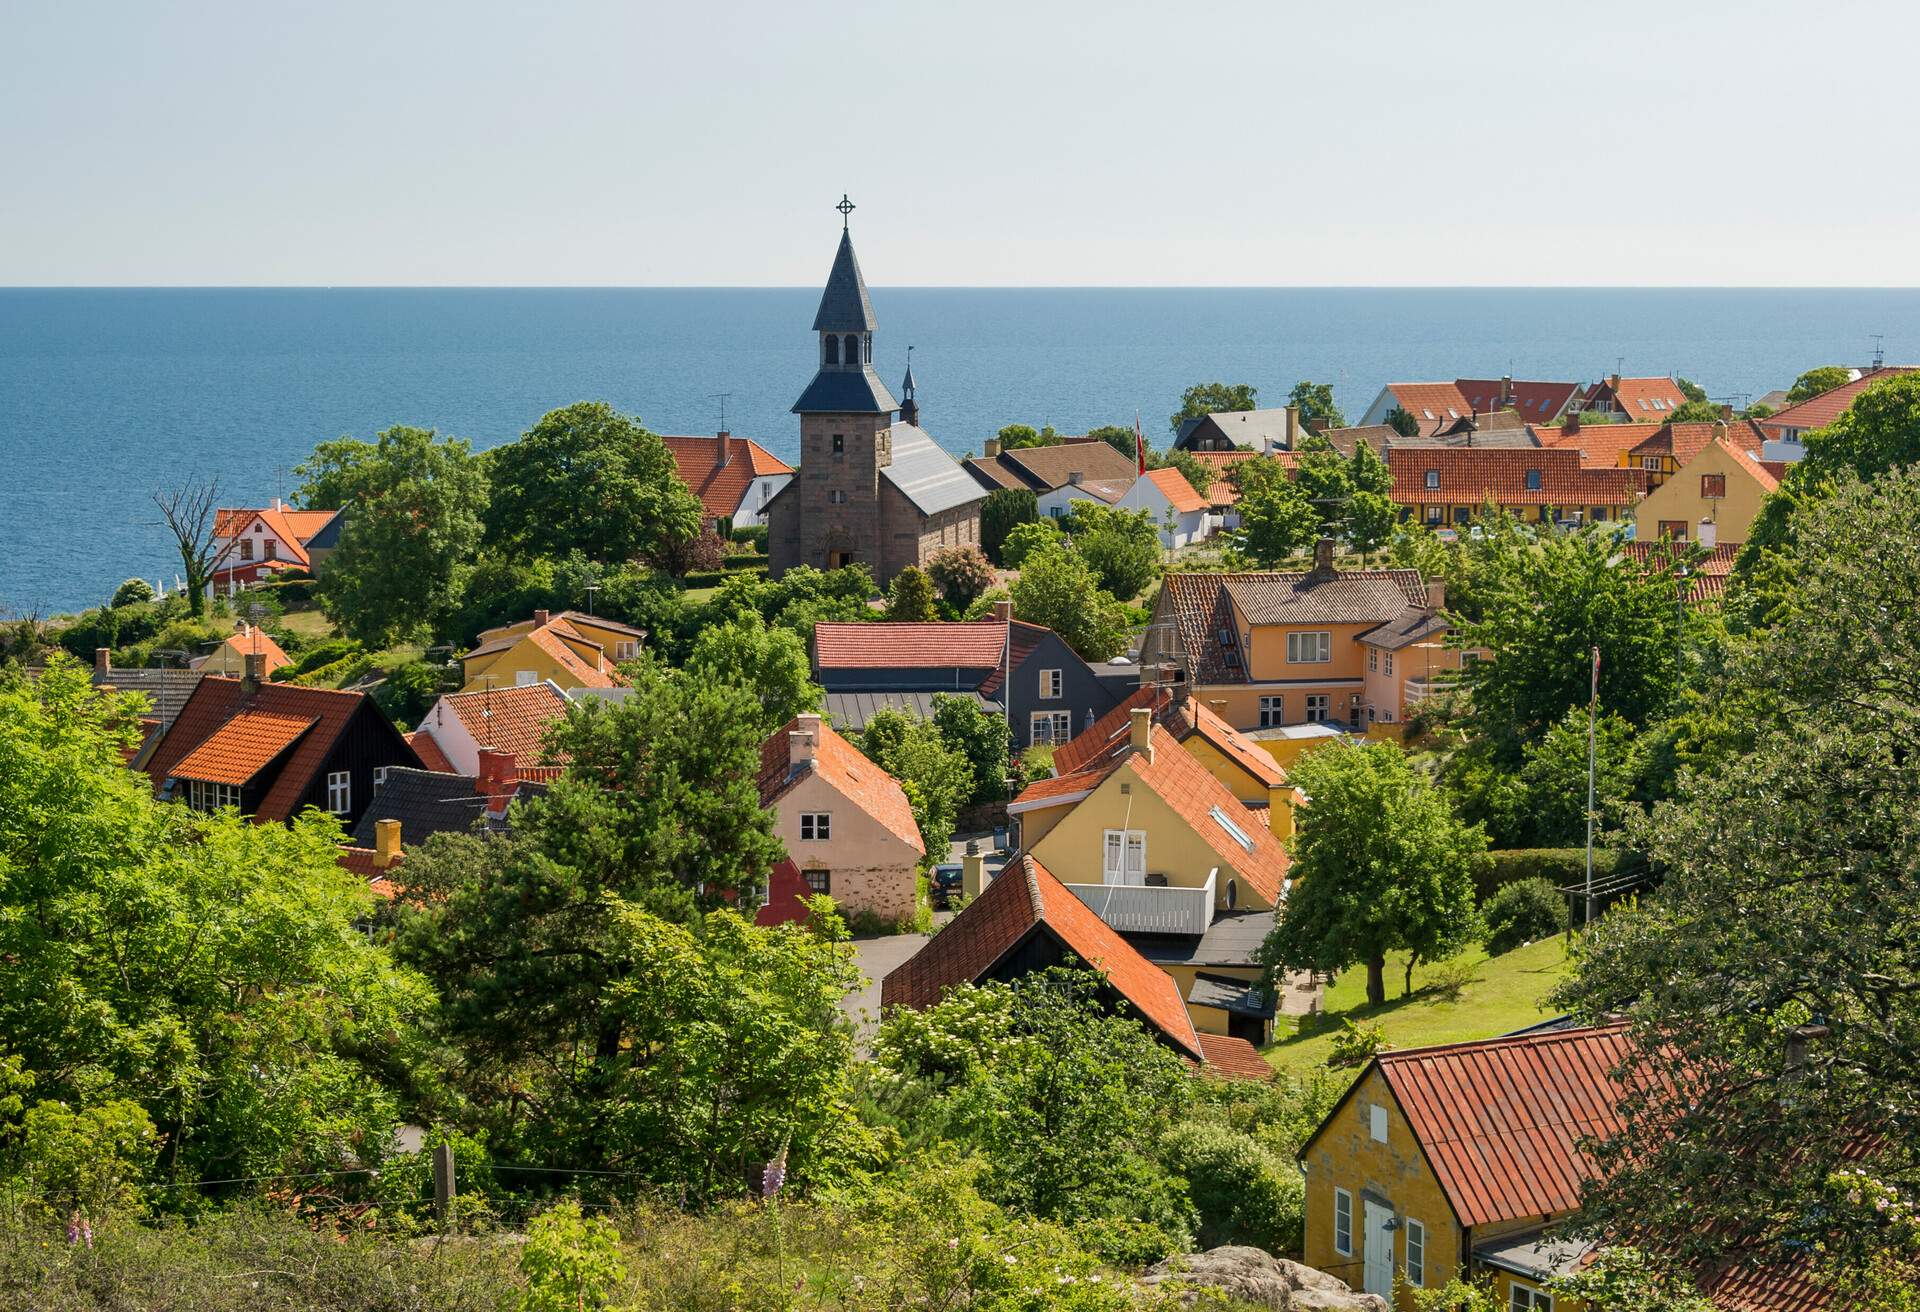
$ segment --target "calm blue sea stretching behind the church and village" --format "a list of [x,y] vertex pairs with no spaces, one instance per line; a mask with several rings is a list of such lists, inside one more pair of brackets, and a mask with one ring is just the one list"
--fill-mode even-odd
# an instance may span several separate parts
[[[0,290],[0,613],[94,605],[179,563],[156,488],[296,486],[323,438],[420,425],[488,448],[607,400],[657,432],[726,425],[793,457],[816,288]],[[1010,423],[1167,436],[1181,390],[1680,373],[1743,400],[1822,363],[1920,357],[1920,290],[876,288],[876,359],[914,348],[922,423],[977,451]],[[724,394],[724,400],[722,400]]]

